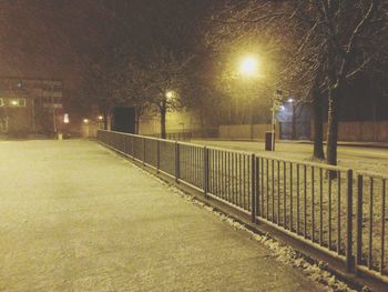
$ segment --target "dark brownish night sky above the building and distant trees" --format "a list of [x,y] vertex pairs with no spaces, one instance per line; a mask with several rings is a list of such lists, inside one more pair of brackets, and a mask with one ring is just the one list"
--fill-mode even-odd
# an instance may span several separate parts
[[73,80],[85,59],[123,46],[142,54],[193,49],[213,2],[2,0],[0,75]]

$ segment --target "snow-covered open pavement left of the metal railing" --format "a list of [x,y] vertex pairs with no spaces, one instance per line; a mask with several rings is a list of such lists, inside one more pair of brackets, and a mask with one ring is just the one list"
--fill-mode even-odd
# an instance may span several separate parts
[[0,291],[319,291],[89,141],[0,142]]

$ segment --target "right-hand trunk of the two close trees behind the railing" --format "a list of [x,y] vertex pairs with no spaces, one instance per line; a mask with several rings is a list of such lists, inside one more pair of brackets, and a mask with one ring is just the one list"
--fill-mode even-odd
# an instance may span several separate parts
[[327,163],[337,165],[337,139],[338,139],[338,87],[329,89],[329,109],[327,123]]

